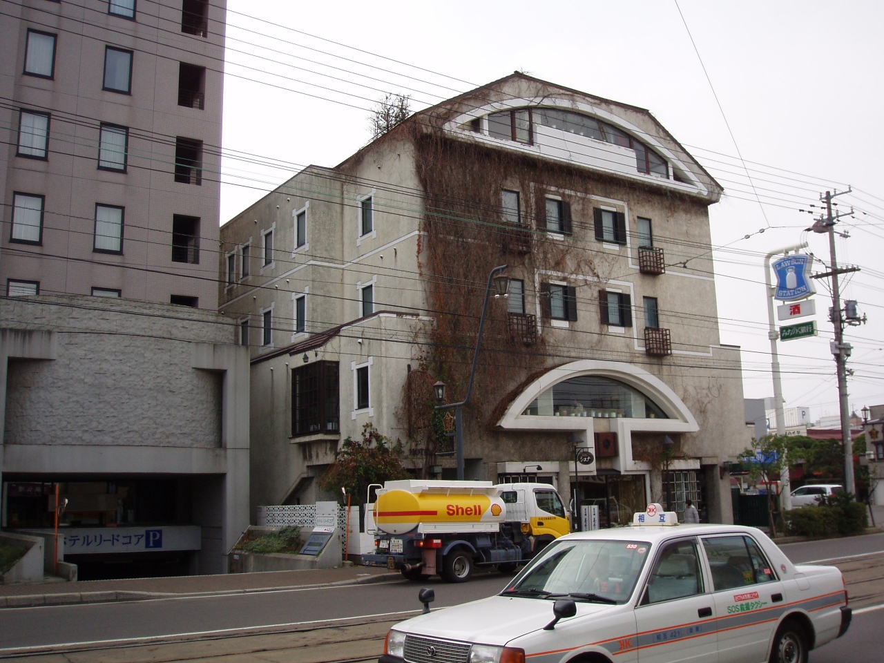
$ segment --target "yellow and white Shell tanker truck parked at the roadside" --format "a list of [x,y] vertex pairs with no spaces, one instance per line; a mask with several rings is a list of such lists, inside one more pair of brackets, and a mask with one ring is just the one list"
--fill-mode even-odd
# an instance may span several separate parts
[[375,552],[363,563],[398,568],[408,580],[465,583],[476,567],[511,573],[570,531],[550,484],[388,481],[370,514]]

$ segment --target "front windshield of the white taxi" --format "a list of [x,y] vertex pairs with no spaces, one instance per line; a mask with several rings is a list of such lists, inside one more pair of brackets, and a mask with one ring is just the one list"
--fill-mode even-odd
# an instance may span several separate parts
[[650,549],[645,541],[556,542],[503,595],[625,603]]

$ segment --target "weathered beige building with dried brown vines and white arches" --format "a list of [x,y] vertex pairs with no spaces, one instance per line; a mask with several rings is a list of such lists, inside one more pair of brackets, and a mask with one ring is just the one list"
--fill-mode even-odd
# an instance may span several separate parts
[[414,476],[453,478],[433,385],[464,397],[507,264],[466,477],[555,484],[609,524],[686,498],[730,522],[749,435],[716,316],[721,191],[649,111],[521,73],[295,175],[221,228],[220,309],[252,357],[252,507],[321,499],[367,424]]

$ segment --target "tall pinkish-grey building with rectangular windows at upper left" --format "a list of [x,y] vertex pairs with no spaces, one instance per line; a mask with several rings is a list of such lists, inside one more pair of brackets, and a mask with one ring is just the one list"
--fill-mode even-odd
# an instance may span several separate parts
[[4,293],[217,308],[225,11],[5,4]]

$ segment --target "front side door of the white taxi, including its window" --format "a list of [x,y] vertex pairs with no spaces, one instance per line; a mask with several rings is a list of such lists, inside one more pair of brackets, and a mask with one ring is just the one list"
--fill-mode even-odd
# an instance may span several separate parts
[[697,539],[665,544],[636,606],[641,663],[716,663],[715,605],[706,590]]

